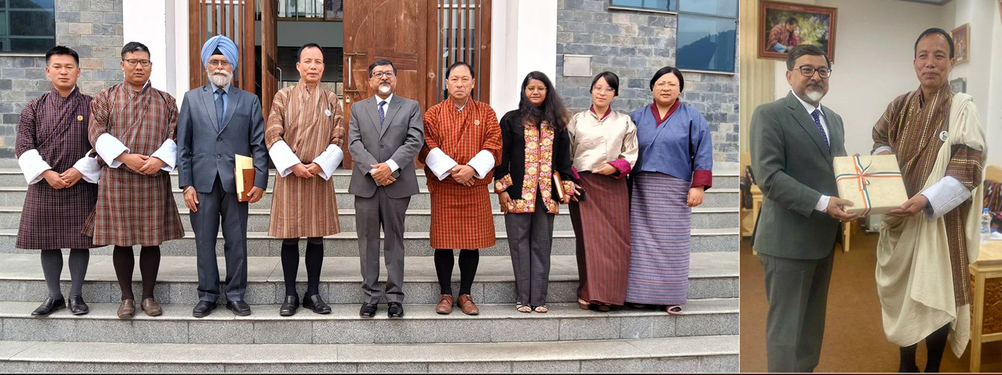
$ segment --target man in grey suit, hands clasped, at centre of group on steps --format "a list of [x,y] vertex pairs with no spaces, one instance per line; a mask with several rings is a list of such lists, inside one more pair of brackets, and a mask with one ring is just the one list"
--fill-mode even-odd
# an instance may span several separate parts
[[352,105],[348,150],[355,160],[348,192],[355,195],[362,291],[359,315],[372,318],[382,298],[379,285],[379,230],[386,234],[386,299],[390,318],[404,316],[404,215],[418,193],[414,157],[425,142],[418,102],[393,94],[397,68],[389,60],[369,66],[376,96]]

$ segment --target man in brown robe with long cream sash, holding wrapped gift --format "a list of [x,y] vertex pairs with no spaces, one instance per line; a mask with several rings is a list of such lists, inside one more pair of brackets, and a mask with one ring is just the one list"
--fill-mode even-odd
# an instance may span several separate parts
[[888,212],[877,246],[884,333],[901,351],[899,372],[939,372],[948,344],[959,358],[970,338],[968,265],[978,258],[988,147],[970,95],[951,90],[950,33],[931,28],[915,41],[919,88],[894,99],[874,125],[874,153],[897,155],[911,197]]

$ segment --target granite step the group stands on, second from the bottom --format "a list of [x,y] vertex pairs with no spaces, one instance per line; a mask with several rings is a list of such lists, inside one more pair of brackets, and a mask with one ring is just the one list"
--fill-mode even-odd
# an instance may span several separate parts
[[521,313],[510,304],[480,304],[480,315],[456,308],[435,313],[432,304],[407,304],[402,319],[388,319],[381,305],[372,319],[359,317],[358,305],[334,305],[331,314],[301,308],[279,316],[279,305],[252,305],[249,316],[234,316],[223,306],[204,318],[191,317],[191,305],[165,304],[163,315],[138,312],[119,319],[118,304],[91,303],[90,313],[68,309],[46,318],[29,313],[35,302],[0,302],[3,340],[63,342],[135,342],[174,344],[403,344],[524,342],[736,335],[737,299],[695,299],[684,315],[623,309],[607,313],[581,310],[577,304],[548,305],[546,314]]

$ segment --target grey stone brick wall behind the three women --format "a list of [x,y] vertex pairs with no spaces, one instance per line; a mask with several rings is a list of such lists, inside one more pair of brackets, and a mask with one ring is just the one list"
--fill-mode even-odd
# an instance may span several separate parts
[[[605,70],[619,76],[619,96],[612,103],[613,109],[629,113],[649,105],[650,77],[661,67],[675,63],[676,16],[608,6],[608,0],[557,2],[554,84],[574,112],[590,106],[591,79]],[[591,55],[592,77],[563,76],[564,54]],[[683,72],[683,77],[685,91],[681,100],[706,117],[712,133],[713,161],[718,166],[732,163],[736,169],[737,75]]]

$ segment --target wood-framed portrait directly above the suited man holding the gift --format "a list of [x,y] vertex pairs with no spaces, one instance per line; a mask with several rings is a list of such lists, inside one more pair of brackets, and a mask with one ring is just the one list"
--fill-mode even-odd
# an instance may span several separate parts
[[762,1],[759,5],[759,57],[786,59],[798,44],[813,44],[835,61],[838,8]]

